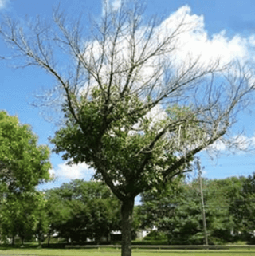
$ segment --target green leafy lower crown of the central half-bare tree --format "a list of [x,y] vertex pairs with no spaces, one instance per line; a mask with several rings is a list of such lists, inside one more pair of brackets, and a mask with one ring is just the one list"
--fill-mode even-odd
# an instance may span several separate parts
[[[202,128],[191,108],[169,107],[166,119],[155,121],[147,116],[152,108],[147,107],[150,99],[143,101],[132,93],[115,101],[116,86],[112,86],[111,93],[112,101],[108,104],[104,102],[104,93],[97,88],[92,90],[89,100],[84,96],[74,97],[77,118],[65,106],[65,127],[56,132],[51,142],[55,144],[54,151],[64,152],[63,159],[69,163],[85,162],[94,167],[95,178],[104,179],[122,200],[123,196],[135,197],[148,188],[160,187],[183,144],[198,140]],[[175,124],[179,120],[180,124],[183,122],[181,127]],[[169,129],[171,136],[180,140],[179,144],[167,143]],[[171,175],[187,167],[190,160],[192,156],[177,170],[169,171]],[[113,184],[115,181],[118,185]]]

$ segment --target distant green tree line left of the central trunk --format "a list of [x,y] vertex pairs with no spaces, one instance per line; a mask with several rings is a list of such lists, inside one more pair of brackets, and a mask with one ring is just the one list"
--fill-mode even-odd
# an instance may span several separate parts
[[22,243],[57,234],[65,242],[84,242],[87,238],[110,241],[110,232],[120,230],[120,203],[100,182],[75,179],[48,191],[12,196],[1,206],[1,238],[18,236]]

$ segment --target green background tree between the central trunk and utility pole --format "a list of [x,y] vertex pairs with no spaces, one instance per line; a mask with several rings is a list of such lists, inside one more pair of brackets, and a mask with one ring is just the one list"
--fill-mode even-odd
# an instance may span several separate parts
[[175,179],[159,194],[142,194],[141,207],[144,227],[155,226],[167,234],[169,244],[201,244],[202,212],[198,191],[193,184]]

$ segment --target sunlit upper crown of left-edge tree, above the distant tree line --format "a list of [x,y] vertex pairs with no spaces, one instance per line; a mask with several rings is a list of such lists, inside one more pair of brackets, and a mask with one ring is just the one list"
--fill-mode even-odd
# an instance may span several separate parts
[[5,195],[34,191],[50,179],[49,148],[37,145],[29,125],[0,112],[0,183]]

